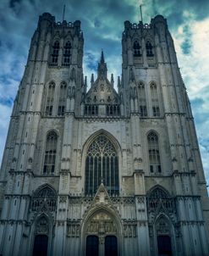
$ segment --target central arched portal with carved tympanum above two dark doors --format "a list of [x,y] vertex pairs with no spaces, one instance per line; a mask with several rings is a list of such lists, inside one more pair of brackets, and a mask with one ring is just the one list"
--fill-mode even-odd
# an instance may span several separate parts
[[85,256],[118,256],[118,225],[106,210],[97,211],[85,225]]

